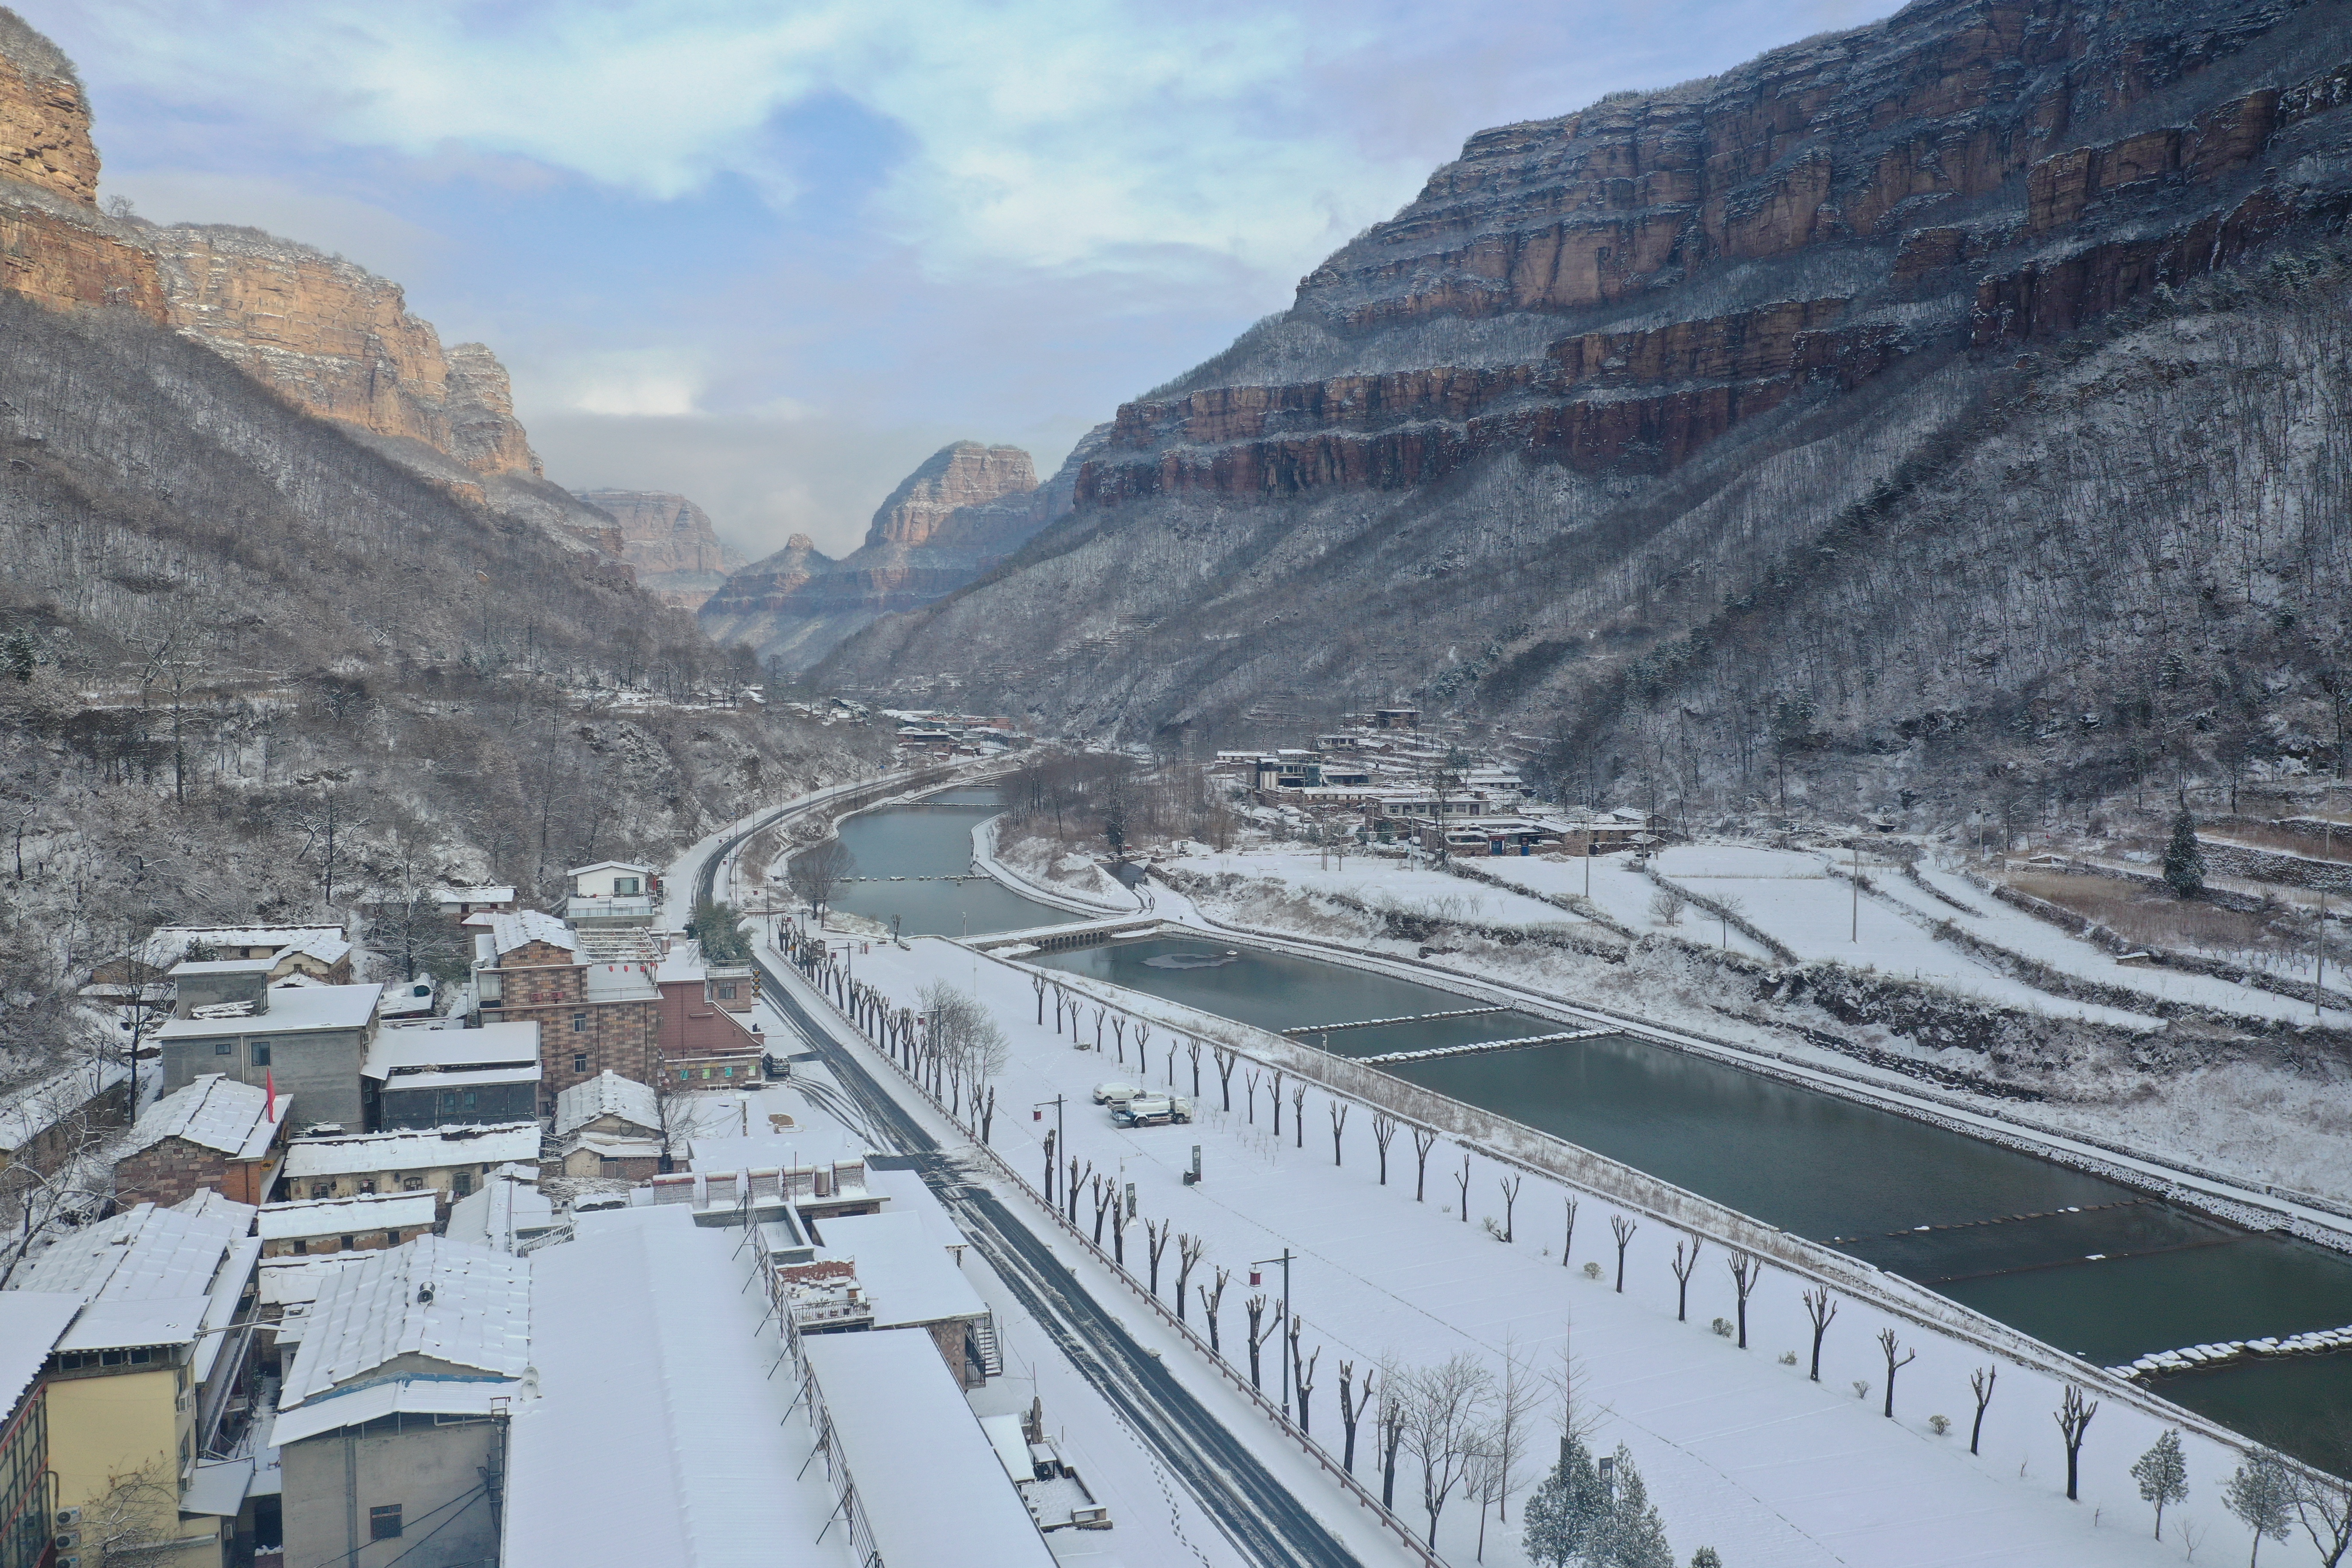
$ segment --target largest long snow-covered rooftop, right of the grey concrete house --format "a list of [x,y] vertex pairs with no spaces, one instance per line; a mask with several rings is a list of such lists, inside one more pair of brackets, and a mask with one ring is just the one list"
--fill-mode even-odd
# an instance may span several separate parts
[[[802,1465],[807,1418],[786,1422],[793,1380],[769,1375],[774,1324],[760,1333],[739,1241],[684,1208],[614,1208],[532,1255],[539,1399],[517,1401],[510,1432],[508,1568],[764,1568],[811,1552],[833,1497],[823,1465]],[[946,1378],[929,1338],[922,1352]],[[896,1474],[924,1474],[908,1455],[927,1450],[901,1453]],[[971,1552],[884,1561],[995,1568]]]

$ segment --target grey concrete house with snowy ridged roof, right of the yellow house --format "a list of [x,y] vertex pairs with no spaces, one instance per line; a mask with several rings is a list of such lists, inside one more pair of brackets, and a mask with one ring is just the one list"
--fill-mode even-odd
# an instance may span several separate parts
[[278,1396],[285,1561],[499,1561],[508,1410],[532,1366],[532,1269],[421,1237],[320,1281]]

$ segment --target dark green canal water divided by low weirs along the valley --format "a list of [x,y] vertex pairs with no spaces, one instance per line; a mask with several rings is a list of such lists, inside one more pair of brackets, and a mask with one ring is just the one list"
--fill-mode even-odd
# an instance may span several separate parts
[[[967,870],[983,790],[842,823],[866,875]],[[917,870],[920,867],[920,870]],[[837,900],[908,933],[1070,919],[995,884],[861,882]],[[1216,938],[1150,938],[1037,961],[1181,1001],[1341,1056],[1552,1034],[1512,1011]],[[1322,1032],[1317,1025],[1406,1018]],[[2352,1258],[2249,1232],[2051,1159],[1621,1034],[1390,1072],[1557,1133],[1677,1187],[1915,1279],[2037,1340],[2114,1366],[2145,1352],[2352,1324]],[[2352,1354],[2169,1378],[2194,1410],[2345,1469]]]

